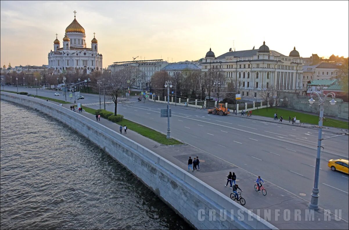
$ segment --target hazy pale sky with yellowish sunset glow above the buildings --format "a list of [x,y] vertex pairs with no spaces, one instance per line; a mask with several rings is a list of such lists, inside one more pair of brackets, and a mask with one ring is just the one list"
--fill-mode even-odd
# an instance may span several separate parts
[[[132,57],[170,62],[259,48],[348,56],[348,1],[1,1],[1,66],[47,64],[55,33],[76,19],[103,67]],[[140,58],[138,58],[139,60]]]

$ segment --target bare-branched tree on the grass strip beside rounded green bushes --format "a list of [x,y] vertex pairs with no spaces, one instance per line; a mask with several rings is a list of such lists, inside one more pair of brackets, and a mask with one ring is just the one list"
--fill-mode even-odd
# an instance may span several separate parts
[[111,96],[112,101],[115,104],[114,115],[117,114],[118,103],[125,102],[127,99],[120,98],[124,87],[127,83],[128,76],[125,74],[125,70],[121,69],[112,74],[105,71],[102,75],[105,79],[105,91],[106,94]]

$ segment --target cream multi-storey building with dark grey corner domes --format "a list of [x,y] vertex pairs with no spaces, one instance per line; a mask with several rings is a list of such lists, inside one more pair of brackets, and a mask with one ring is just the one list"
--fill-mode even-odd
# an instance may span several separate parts
[[218,57],[210,50],[201,61],[203,74],[221,69],[226,82],[236,82],[241,96],[261,99],[260,92],[269,87],[289,92],[302,92],[303,64],[296,48],[283,55],[270,50],[265,42],[259,49],[230,51]]

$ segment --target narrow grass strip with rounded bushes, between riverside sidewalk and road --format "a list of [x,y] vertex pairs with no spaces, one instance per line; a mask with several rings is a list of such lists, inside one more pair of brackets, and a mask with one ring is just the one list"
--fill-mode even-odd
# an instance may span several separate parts
[[[90,114],[96,114],[96,110],[97,109],[91,109],[89,107],[85,107],[85,106],[81,106],[86,112],[90,113]],[[122,119],[120,122],[118,122],[119,125],[126,125],[127,129],[135,131],[137,133],[139,133],[140,135],[147,137],[151,140],[156,141],[157,143],[163,144],[163,145],[181,145],[183,143],[181,143],[178,140],[175,140],[173,138],[171,139],[167,139],[166,135],[155,131],[153,129],[150,129],[146,126],[143,126],[141,124],[135,123],[133,121],[129,121],[127,119]]]

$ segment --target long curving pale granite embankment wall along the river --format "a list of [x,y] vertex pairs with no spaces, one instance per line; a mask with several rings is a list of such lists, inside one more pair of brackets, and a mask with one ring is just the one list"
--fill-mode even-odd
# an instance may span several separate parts
[[[1,100],[36,108],[80,132],[123,164],[197,229],[277,229],[175,164],[79,113],[13,93],[1,92]],[[215,216],[210,218],[210,213]]]

